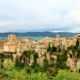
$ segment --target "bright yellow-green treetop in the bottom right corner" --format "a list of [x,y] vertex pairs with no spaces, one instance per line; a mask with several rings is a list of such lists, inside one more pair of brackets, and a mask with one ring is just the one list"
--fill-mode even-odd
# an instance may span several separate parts
[[58,70],[58,74],[53,77],[53,80],[80,80],[78,72],[70,70]]

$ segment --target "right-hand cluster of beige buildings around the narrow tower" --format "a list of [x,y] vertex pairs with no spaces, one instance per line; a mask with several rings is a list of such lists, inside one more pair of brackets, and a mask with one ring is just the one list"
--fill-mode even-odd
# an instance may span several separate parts
[[46,37],[44,39],[39,40],[39,42],[42,42],[44,44],[51,44],[54,46],[64,46],[65,48],[71,45],[76,45],[76,40],[79,40],[80,42],[80,34],[75,35],[73,37],[69,38],[61,38],[59,34],[56,34],[55,38]]

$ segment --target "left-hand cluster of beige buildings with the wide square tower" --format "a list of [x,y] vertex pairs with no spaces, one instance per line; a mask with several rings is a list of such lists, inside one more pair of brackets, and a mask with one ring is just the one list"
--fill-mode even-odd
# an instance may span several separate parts
[[33,50],[35,42],[28,39],[17,39],[15,35],[10,34],[7,42],[3,45],[4,52],[22,53],[24,50]]

